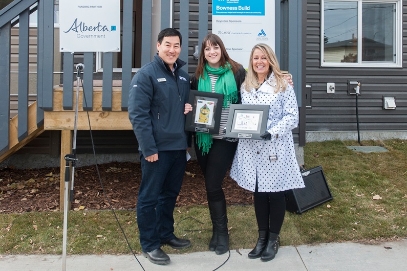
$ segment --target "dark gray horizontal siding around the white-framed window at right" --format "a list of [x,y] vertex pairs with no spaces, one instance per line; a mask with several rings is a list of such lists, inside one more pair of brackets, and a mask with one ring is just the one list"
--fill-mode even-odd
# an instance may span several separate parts
[[[307,131],[355,131],[356,101],[348,95],[348,80],[361,81],[358,97],[361,131],[407,130],[407,3],[403,2],[403,67],[321,67],[320,3],[307,0],[306,83],[312,85],[312,107],[306,109]],[[335,93],[327,94],[327,82]],[[382,96],[396,97],[396,109],[382,109]]]

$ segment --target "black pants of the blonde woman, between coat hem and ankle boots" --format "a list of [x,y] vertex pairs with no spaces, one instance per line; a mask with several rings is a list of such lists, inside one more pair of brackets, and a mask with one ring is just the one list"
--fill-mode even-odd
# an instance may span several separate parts
[[286,214],[285,191],[254,192],[254,212],[259,231],[279,234]]

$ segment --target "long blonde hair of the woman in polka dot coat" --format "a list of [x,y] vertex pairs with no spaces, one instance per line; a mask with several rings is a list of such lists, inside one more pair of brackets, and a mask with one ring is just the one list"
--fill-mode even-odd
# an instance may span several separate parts
[[273,52],[273,50],[265,43],[259,43],[253,47],[250,53],[249,59],[249,67],[247,69],[247,74],[245,81],[243,82],[244,89],[247,92],[250,92],[252,88],[259,88],[262,83],[259,83],[259,78],[257,74],[253,70],[253,53],[256,49],[259,49],[265,56],[270,65],[270,70],[267,74],[266,80],[270,77],[271,72],[274,73],[275,81],[276,81],[276,88],[275,93],[281,91],[285,91],[288,85],[288,81],[286,80],[285,76],[289,76],[292,78],[291,74],[283,74],[280,70],[279,61]]

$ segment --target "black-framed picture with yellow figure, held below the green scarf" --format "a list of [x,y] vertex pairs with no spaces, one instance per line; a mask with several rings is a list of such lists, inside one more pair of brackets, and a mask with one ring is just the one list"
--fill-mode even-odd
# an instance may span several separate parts
[[191,90],[188,103],[192,111],[186,115],[185,130],[219,133],[223,94]]

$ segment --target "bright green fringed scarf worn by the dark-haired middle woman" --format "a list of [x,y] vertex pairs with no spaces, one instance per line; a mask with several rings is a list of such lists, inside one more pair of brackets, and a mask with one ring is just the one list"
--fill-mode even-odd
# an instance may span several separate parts
[[[219,67],[218,69],[212,68],[205,64],[203,71],[203,78],[200,77],[198,81],[198,90],[203,92],[212,92],[212,84],[208,75],[219,75],[218,80],[215,83],[215,93],[223,94],[223,108],[226,108],[228,103],[235,103],[238,101],[238,88],[230,64],[227,63],[225,67]],[[212,135],[210,133],[197,132],[197,144],[202,148],[202,155],[209,152],[209,148],[212,145]]]

